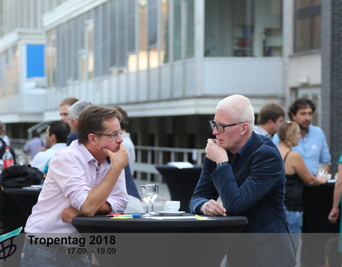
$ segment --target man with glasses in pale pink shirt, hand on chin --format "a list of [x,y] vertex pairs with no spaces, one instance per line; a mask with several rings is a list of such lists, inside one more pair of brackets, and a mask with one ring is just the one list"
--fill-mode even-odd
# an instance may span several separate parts
[[[124,167],[128,152],[121,144],[120,114],[90,105],[78,120],[78,140],[56,152],[36,206],[26,222],[22,267],[49,261],[47,266],[90,266],[86,255],[68,255],[68,246],[32,244],[29,236],[77,233],[74,216],[122,212],[128,204]],[[53,262],[51,262],[53,258]],[[69,264],[70,263],[70,264]]]

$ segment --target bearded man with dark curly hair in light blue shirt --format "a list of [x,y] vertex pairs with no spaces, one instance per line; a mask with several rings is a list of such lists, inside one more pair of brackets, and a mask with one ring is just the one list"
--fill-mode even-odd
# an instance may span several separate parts
[[[303,157],[306,167],[311,174],[316,174],[319,164],[326,164],[326,172],[329,173],[331,155],[326,143],[326,136],[320,127],[311,125],[312,115],[316,110],[315,104],[306,98],[298,98],[289,108],[289,118],[301,127],[301,138],[292,150],[299,152]],[[278,135],[274,135],[273,141],[279,144]]]

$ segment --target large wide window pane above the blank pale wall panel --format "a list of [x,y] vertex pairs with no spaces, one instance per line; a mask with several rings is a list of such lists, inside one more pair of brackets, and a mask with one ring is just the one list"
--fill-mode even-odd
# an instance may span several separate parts
[[281,56],[281,0],[206,0],[204,56]]

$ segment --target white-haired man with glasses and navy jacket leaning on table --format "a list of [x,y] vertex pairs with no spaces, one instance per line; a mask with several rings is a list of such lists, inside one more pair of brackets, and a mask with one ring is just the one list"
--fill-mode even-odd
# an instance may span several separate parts
[[295,266],[284,208],[283,160],[271,139],[253,132],[254,109],[249,99],[231,95],[221,100],[210,126],[216,139],[207,140],[190,211],[246,216],[245,232],[268,233],[237,240],[227,253],[229,266]]

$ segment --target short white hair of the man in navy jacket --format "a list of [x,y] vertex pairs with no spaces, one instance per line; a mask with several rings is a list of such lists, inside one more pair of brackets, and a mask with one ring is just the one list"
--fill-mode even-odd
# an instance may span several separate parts
[[219,101],[216,110],[229,110],[234,120],[237,122],[247,122],[249,124],[249,131],[252,132],[254,127],[254,108],[245,96],[230,95]]

